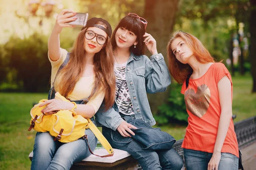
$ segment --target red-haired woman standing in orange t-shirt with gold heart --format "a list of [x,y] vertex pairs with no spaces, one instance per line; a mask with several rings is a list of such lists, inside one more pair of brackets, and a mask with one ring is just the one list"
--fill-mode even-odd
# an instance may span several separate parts
[[182,31],[171,38],[167,52],[171,75],[183,83],[181,93],[189,114],[181,146],[187,170],[238,170],[233,84],[227,68],[215,63],[198,38]]

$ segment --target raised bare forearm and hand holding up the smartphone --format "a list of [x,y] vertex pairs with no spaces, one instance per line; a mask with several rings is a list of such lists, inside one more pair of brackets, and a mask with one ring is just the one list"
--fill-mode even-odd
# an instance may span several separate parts
[[[71,12],[71,13],[67,13],[67,12]],[[52,61],[57,61],[61,57],[60,33],[62,28],[64,27],[74,27],[65,23],[76,20],[76,17],[72,17],[75,15],[76,13],[70,9],[63,9],[61,13],[58,14],[52,33],[48,40],[49,58]]]

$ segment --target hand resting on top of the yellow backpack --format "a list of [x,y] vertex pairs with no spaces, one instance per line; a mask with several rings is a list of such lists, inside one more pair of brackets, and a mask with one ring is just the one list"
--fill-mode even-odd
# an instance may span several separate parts
[[41,110],[42,113],[49,113],[56,110],[68,110],[73,109],[74,107],[74,104],[71,102],[60,101],[56,99],[45,101],[44,103],[40,104],[39,107],[43,107],[44,105],[47,106]]

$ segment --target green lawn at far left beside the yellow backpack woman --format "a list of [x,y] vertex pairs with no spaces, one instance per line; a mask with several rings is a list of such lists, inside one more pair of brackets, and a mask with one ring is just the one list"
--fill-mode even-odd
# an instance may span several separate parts
[[29,132],[33,102],[47,94],[0,93],[0,170],[28,170],[35,131]]

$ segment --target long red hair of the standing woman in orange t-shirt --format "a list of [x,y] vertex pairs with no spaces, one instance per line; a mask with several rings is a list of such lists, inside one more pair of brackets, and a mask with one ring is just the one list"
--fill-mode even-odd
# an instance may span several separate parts
[[167,45],[167,56],[169,60],[169,72],[181,84],[186,80],[188,75],[192,74],[193,69],[189,64],[183,64],[178,61],[172,52],[172,43],[178,37],[181,37],[186,42],[198,62],[215,63],[215,60],[197,37],[182,31],[175,33]]

